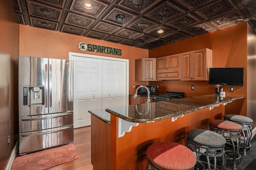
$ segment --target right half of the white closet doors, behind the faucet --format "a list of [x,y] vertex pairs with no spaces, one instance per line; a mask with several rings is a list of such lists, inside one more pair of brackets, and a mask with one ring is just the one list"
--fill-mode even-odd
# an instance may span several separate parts
[[126,105],[126,62],[102,61],[102,108]]

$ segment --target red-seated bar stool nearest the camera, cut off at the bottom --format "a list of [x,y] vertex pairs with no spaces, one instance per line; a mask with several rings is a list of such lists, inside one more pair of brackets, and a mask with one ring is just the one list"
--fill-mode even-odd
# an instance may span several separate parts
[[191,150],[175,142],[158,142],[147,149],[146,170],[192,170],[196,157]]

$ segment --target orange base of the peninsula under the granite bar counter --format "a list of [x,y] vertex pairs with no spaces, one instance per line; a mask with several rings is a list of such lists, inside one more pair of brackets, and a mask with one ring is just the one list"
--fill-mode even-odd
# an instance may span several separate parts
[[[229,104],[232,105],[232,104]],[[118,138],[118,117],[110,115],[111,124],[91,117],[92,166],[94,170],[144,170],[146,150],[156,142],[171,141],[186,145],[186,132],[194,128],[208,129],[212,119],[223,119],[224,105],[185,114],[172,122],[165,119],[140,123]]]

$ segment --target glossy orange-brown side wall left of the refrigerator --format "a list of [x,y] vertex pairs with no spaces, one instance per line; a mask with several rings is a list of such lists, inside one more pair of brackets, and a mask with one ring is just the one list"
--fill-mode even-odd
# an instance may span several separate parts
[[[0,1],[0,37],[0,170],[4,170],[18,138],[16,80],[18,79],[19,24],[10,0]],[[10,136],[10,144],[7,142],[8,136]]]

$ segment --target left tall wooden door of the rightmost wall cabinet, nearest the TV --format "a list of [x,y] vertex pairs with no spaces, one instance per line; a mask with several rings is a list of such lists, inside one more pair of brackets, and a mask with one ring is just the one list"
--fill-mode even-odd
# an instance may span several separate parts
[[181,80],[191,80],[192,79],[192,73],[191,73],[191,67],[192,67],[192,51],[181,53]]

